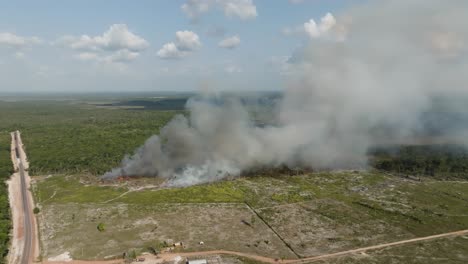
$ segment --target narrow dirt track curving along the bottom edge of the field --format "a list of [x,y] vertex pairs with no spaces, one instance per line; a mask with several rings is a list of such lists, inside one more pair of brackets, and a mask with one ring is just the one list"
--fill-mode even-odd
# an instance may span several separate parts
[[[376,250],[376,249],[382,249],[386,247],[392,247],[392,246],[398,246],[398,245],[404,245],[404,244],[409,244],[409,243],[414,243],[414,242],[420,242],[420,241],[426,241],[426,240],[433,240],[433,239],[438,239],[438,238],[446,238],[446,237],[453,237],[453,236],[463,236],[463,235],[468,235],[468,229],[467,230],[460,230],[460,231],[455,231],[455,232],[449,232],[449,233],[443,233],[443,234],[438,234],[438,235],[432,235],[432,236],[426,236],[426,237],[419,237],[419,238],[413,238],[413,239],[407,239],[407,240],[401,240],[401,241],[396,241],[396,242],[391,242],[391,243],[384,243],[384,244],[379,244],[379,245],[374,245],[374,246],[369,246],[369,247],[363,247],[363,248],[357,248],[357,249],[351,249],[351,250],[346,250],[346,251],[341,251],[341,252],[336,252],[336,253],[331,253],[331,254],[325,254],[325,255],[320,255],[320,256],[314,256],[314,257],[307,257],[307,258],[302,258],[302,259],[273,259],[269,257],[263,257],[263,256],[258,256],[258,255],[252,255],[248,253],[242,253],[242,252],[235,252],[235,251],[228,251],[228,250],[213,250],[213,251],[199,251],[199,252],[187,252],[187,253],[164,253],[160,254],[158,258],[151,256],[151,257],[146,257],[146,263],[155,263],[155,262],[163,262],[163,261],[174,261],[176,257],[197,257],[197,256],[208,256],[208,255],[232,255],[232,256],[239,256],[239,257],[245,257],[265,263],[310,263],[314,261],[319,261],[319,260],[324,260],[324,259],[329,259],[329,258],[334,258],[334,257],[339,257],[339,256],[345,256],[345,255],[351,255],[351,254],[356,254],[356,253],[361,253],[369,250]],[[145,263],[145,262],[140,262],[140,263]],[[110,264],[110,263],[122,263],[122,260],[109,260],[109,261],[81,261],[81,260],[73,260],[69,262],[59,262],[59,261],[46,261],[44,263],[48,264],[59,264],[59,263],[70,263],[70,264],[90,264],[90,263],[102,263],[102,264]]]

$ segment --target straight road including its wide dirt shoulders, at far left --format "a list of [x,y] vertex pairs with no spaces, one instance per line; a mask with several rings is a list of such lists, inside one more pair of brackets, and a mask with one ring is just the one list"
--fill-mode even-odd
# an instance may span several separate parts
[[32,212],[34,202],[29,191],[29,164],[23,150],[21,135],[18,131],[11,133],[12,162],[17,173],[8,181],[10,207],[13,216],[13,237],[8,256],[9,263],[32,263],[35,254],[39,253],[36,219]]

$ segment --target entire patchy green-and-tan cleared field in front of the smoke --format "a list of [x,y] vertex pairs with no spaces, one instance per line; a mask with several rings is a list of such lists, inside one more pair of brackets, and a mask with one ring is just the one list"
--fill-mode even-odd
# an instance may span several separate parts
[[44,258],[102,259],[178,241],[175,250],[298,258],[468,228],[465,182],[342,171],[129,189],[80,178],[34,184]]

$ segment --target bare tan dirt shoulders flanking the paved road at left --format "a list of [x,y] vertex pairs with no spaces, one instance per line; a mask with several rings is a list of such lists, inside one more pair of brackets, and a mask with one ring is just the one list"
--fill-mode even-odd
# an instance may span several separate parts
[[[14,133],[11,134],[11,160],[13,162],[13,167],[15,171],[18,171],[19,169],[19,162],[21,162],[27,170],[29,168],[29,163],[27,161],[26,153],[24,152],[23,149],[23,144],[21,142],[21,137],[18,132],[18,144],[21,146],[18,151],[18,156],[20,157],[19,159],[17,158],[16,154],[16,138],[14,136]],[[30,184],[31,184],[31,178],[29,177],[29,174],[27,171],[25,171],[25,180],[26,180],[26,186],[27,189],[30,189]],[[10,208],[11,208],[11,213],[12,213],[12,219],[13,219],[13,234],[12,234],[12,239],[11,239],[11,246],[8,254],[8,263],[19,263],[21,261],[21,256],[23,254],[23,247],[24,247],[24,213],[23,213],[23,205],[22,205],[22,197],[21,197],[21,180],[20,180],[20,174],[19,173],[14,173],[10,180],[7,181],[8,184],[8,197],[10,200]],[[34,208],[34,201],[33,197],[30,191],[27,192],[28,194],[28,199],[29,199],[29,204],[31,205],[31,210]],[[33,254],[31,254],[31,259],[29,260],[30,263],[34,262],[35,260],[38,259],[39,256],[39,242],[38,242],[38,234],[37,234],[37,222],[34,214],[31,212],[30,213],[30,221],[32,223],[32,251]]]

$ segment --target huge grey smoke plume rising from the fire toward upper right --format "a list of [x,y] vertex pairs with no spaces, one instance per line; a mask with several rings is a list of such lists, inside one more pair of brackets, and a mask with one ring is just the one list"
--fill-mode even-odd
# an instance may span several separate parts
[[424,129],[434,98],[468,94],[467,10],[468,1],[457,0],[348,10],[328,36],[291,57],[300,78],[284,91],[274,126],[256,126],[238,100],[193,99],[189,117],[175,117],[104,177],[157,176],[183,186],[264,167],[362,166],[369,146]]

